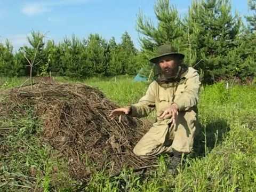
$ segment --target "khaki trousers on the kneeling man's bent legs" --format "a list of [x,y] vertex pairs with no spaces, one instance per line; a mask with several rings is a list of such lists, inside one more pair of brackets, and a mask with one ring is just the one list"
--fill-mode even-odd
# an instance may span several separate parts
[[171,124],[170,119],[157,121],[140,139],[133,153],[144,158],[170,153],[172,149],[190,153],[197,124],[196,113],[193,110],[180,112],[175,126]]

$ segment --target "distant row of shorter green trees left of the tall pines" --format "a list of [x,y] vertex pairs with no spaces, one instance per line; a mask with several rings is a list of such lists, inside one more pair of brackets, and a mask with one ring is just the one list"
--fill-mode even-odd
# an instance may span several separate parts
[[45,35],[32,31],[28,36],[29,46],[20,47],[13,53],[9,41],[0,44],[0,75],[29,75],[29,62],[34,61],[33,75],[90,77],[94,75],[134,75],[139,68],[139,52],[130,35],[125,32],[121,43],[110,41],[98,34],[91,34],[82,41],[75,35],[62,42],[45,42]]

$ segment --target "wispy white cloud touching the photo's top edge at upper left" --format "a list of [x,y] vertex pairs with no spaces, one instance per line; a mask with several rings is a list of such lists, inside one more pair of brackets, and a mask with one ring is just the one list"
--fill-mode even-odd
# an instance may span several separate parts
[[36,14],[41,14],[44,12],[49,12],[53,9],[53,7],[57,6],[69,6],[69,5],[81,5],[89,2],[90,0],[45,0],[45,1],[37,1],[26,3],[21,12],[28,15],[33,16]]

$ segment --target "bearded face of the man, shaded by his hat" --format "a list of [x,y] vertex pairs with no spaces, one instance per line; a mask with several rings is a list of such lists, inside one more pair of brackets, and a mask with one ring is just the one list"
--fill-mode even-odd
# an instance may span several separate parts
[[177,73],[179,60],[173,55],[167,55],[159,59],[158,65],[162,73],[167,76],[175,76]]

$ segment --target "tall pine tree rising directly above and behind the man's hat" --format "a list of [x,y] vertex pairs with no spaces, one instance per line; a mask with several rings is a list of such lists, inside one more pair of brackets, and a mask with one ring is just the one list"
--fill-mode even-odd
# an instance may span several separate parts
[[158,0],[154,6],[157,26],[151,19],[146,18],[142,12],[137,18],[137,30],[141,34],[140,43],[142,50],[151,57],[155,47],[164,43],[171,43],[179,48],[183,26],[176,7],[171,6],[169,0]]

